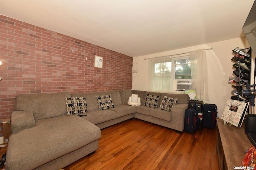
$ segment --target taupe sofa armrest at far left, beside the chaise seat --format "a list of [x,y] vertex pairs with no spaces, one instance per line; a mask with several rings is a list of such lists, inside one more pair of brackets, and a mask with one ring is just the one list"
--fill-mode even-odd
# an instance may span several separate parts
[[36,126],[32,112],[13,111],[11,116],[12,134]]

